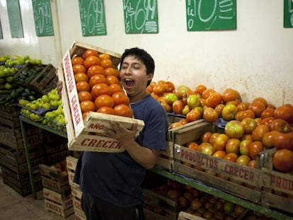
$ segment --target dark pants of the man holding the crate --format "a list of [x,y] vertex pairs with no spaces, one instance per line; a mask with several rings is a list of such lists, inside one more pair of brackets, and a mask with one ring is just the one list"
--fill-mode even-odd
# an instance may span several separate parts
[[139,207],[117,207],[103,199],[83,192],[81,207],[87,220],[144,220],[142,205]]

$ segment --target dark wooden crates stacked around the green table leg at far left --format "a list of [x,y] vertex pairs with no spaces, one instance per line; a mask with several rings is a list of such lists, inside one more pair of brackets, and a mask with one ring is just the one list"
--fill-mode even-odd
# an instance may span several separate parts
[[[4,183],[20,195],[26,196],[32,193],[32,190],[19,115],[17,106],[0,107],[0,166]],[[42,163],[43,158],[43,152],[40,150],[43,141],[42,129],[28,126],[26,133],[35,187],[40,190],[42,183],[38,164]]]

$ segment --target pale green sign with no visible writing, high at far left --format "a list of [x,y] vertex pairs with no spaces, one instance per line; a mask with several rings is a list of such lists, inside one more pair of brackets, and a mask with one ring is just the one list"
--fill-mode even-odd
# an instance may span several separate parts
[[11,38],[23,38],[23,22],[18,0],[6,0]]

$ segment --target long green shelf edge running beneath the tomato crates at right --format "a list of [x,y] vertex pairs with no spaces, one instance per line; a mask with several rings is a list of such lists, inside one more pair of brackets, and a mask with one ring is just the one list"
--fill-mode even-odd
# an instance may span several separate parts
[[214,195],[215,197],[225,199],[226,201],[234,202],[235,204],[239,204],[243,207],[246,207],[247,209],[251,209],[255,212],[265,214],[266,216],[270,216],[274,219],[293,220],[293,216],[288,216],[287,214],[283,214],[282,212],[277,212],[275,210],[267,209],[265,207],[262,207],[260,204],[248,202],[245,199],[241,199],[239,197],[236,197],[234,195],[226,193],[222,190],[218,190],[217,188],[211,187],[209,185],[205,185],[205,183],[197,182],[196,180],[193,180],[191,178],[187,178],[183,175],[179,175],[177,173],[171,173],[168,170],[163,170],[161,168],[156,168],[156,167],[152,168],[151,172],[157,173],[157,174],[162,175],[162,176],[169,178],[171,180],[175,180],[178,183],[183,183],[185,185],[189,185],[191,187],[194,187],[197,190],[200,190],[202,192],[206,192],[209,195]]

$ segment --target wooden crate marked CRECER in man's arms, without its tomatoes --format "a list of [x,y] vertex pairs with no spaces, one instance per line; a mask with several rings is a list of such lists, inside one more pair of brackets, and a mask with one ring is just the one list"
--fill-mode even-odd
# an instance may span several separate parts
[[81,42],[74,42],[71,49],[67,51],[62,59],[62,66],[57,69],[59,81],[63,81],[62,102],[64,105],[64,116],[67,121],[67,137],[69,150],[73,151],[99,151],[118,153],[125,151],[122,144],[108,137],[103,137],[103,128],[109,127],[109,121],[119,121],[127,127],[133,124],[138,125],[139,131],[144,127],[142,120],[116,115],[107,115],[98,112],[91,112],[83,120],[79,97],[74,81],[74,71],[72,69],[71,57],[81,55],[86,49],[97,50],[109,54],[113,64],[116,66],[120,62],[120,54],[104,50],[100,47],[93,47]]

